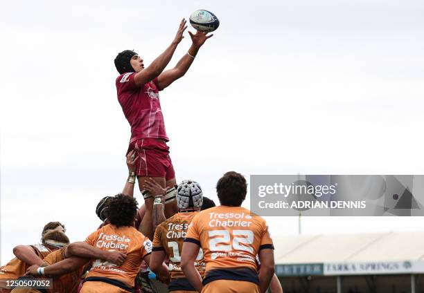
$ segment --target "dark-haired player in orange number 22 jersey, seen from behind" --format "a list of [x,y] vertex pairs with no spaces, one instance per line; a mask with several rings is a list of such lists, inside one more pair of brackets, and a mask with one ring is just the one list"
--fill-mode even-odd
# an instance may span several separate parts
[[[241,207],[247,182],[240,173],[225,173],[216,190],[221,205],[200,211],[188,227],[182,271],[197,292],[263,293],[274,275],[274,245],[265,220]],[[194,265],[200,248],[206,263],[203,280]]]

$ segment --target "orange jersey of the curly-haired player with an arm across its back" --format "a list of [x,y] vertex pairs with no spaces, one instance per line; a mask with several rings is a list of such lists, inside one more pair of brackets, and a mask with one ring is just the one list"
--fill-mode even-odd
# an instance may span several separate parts
[[112,278],[134,287],[134,279],[139,272],[143,258],[152,252],[152,241],[134,227],[105,225],[90,234],[86,243],[109,252],[125,252],[127,258],[118,266],[101,259],[94,261],[87,277]]

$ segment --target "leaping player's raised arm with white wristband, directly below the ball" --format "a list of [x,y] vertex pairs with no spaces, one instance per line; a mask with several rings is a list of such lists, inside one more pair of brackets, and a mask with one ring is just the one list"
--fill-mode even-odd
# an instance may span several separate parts
[[193,34],[192,32],[188,32],[188,34],[190,35],[192,41],[191,47],[188,49],[186,55],[179,59],[179,62],[173,69],[166,70],[161,73],[159,77],[157,77],[159,91],[163,90],[175,82],[175,80],[183,77],[186,74],[188,68],[190,68],[191,64],[193,63],[200,47],[204,44],[206,39],[209,39],[213,36],[206,35],[205,32],[200,31],[197,31],[196,34]]

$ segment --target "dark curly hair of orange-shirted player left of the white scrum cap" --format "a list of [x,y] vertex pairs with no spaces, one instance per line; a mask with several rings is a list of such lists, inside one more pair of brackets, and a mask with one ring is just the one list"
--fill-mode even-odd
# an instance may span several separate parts
[[105,211],[107,219],[116,227],[133,226],[138,210],[137,205],[135,198],[119,193],[107,200]]

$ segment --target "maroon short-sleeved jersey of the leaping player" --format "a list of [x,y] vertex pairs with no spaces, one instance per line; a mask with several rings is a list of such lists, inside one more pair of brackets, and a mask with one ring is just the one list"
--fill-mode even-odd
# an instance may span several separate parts
[[134,82],[135,74],[124,73],[116,78],[118,101],[131,126],[131,142],[141,138],[161,138],[168,141],[157,78],[138,87]]

